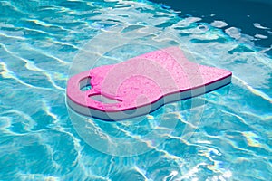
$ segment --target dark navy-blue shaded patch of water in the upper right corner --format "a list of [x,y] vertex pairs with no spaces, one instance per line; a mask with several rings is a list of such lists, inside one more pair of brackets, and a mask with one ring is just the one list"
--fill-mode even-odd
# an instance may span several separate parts
[[[152,0],[176,10],[181,17],[193,14],[205,22],[226,33],[247,34],[251,43],[256,46],[271,47],[272,16],[270,0]],[[239,40],[238,42],[243,42]],[[248,42],[249,42],[248,41]],[[271,55],[271,49],[267,50]]]

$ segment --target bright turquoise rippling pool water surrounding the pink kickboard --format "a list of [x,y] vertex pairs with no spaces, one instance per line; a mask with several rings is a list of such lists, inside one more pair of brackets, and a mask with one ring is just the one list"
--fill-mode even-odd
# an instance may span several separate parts
[[[0,180],[269,180],[272,27],[255,22],[255,36],[216,14],[176,11],[0,0]],[[69,76],[168,45],[232,71],[232,83],[121,122],[67,108]]]

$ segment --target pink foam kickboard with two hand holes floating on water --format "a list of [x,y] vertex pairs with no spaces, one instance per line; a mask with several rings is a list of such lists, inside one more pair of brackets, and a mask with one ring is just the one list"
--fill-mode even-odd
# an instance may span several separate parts
[[[230,81],[230,71],[189,62],[180,48],[170,47],[76,74],[69,79],[66,93],[76,112],[119,120],[147,114]],[[81,90],[88,84],[91,90]]]

